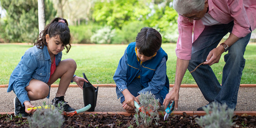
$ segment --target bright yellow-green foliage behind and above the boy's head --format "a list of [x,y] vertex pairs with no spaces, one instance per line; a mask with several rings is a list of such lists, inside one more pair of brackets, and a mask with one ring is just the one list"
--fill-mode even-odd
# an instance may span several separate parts
[[[103,1],[103,2],[102,2]],[[157,29],[163,42],[175,42],[177,32],[177,12],[170,6],[171,0],[102,0],[95,3],[93,18],[102,26],[112,26],[117,29],[122,43],[128,43],[132,38],[125,37],[125,33],[135,29],[129,26],[135,22]],[[123,28],[123,27],[126,28]],[[142,26],[140,26],[142,27]],[[136,28],[137,29],[137,28]],[[141,28],[139,28],[140,30]],[[122,32],[123,31],[123,32]],[[120,40],[114,39],[116,42]]]

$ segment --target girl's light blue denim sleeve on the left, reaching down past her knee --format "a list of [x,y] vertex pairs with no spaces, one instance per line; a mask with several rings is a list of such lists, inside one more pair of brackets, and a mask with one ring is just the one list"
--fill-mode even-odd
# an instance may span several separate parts
[[32,73],[34,73],[38,63],[35,57],[25,53],[18,65],[20,72],[17,76],[13,89],[17,98],[23,105],[25,101],[30,101],[25,87],[27,86],[26,84],[31,80]]

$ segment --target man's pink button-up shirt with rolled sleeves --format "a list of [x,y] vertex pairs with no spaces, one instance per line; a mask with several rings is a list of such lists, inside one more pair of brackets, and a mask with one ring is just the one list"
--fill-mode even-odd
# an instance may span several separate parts
[[[241,38],[249,34],[250,27],[256,28],[256,0],[208,0],[208,13],[220,23],[230,23],[234,20],[232,33]],[[201,20],[193,23],[183,16],[178,17],[179,37],[176,46],[176,55],[183,60],[191,59],[192,42],[204,30]]]

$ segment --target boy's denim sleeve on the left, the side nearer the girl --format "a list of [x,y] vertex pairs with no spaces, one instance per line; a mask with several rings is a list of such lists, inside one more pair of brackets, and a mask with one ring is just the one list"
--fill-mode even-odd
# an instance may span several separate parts
[[116,72],[113,76],[113,80],[116,83],[116,87],[122,92],[123,90],[127,89],[126,85],[126,76],[127,76],[127,52],[125,49],[125,53],[119,61],[119,64],[116,68]]

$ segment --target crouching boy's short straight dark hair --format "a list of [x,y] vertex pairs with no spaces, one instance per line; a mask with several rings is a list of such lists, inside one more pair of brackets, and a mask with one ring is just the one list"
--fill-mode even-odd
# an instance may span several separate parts
[[145,56],[152,56],[162,45],[161,34],[153,28],[144,27],[136,37],[136,47]]

